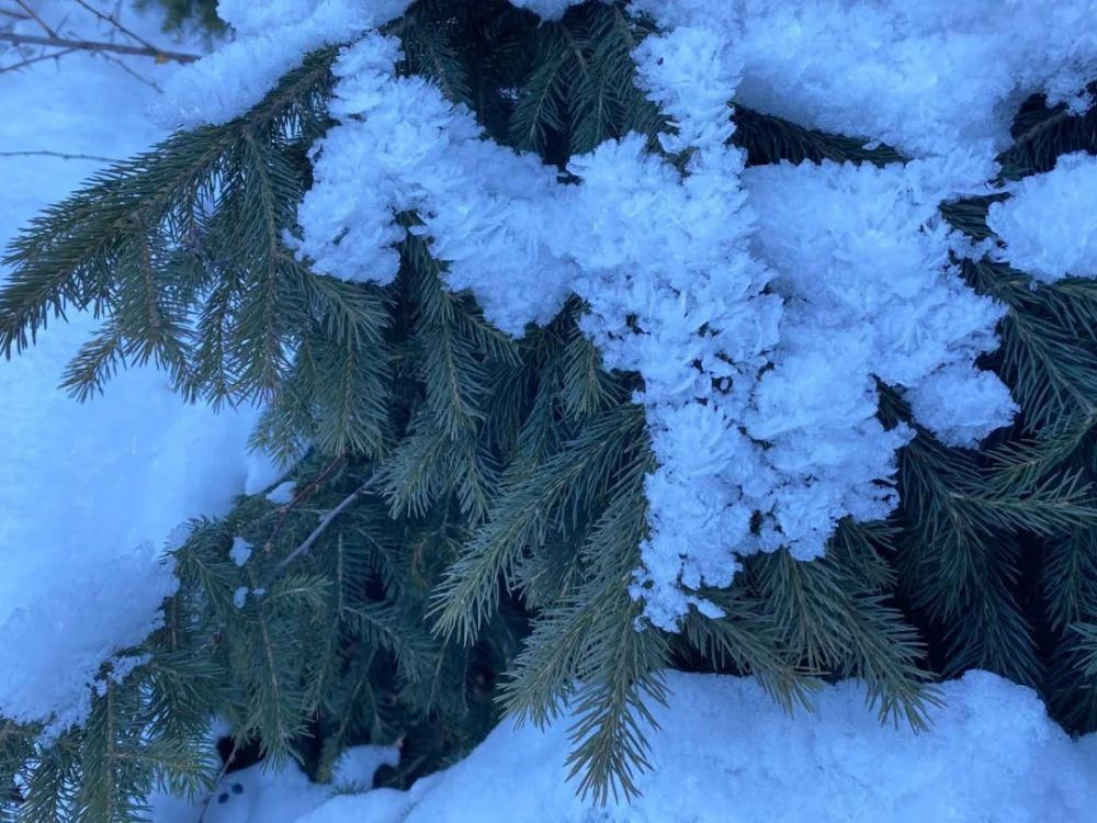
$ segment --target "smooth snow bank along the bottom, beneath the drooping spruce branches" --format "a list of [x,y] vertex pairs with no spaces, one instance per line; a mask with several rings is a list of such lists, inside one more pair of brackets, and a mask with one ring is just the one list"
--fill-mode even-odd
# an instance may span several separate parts
[[[567,779],[568,725],[501,723],[453,767],[408,791],[340,794],[302,816],[293,801],[325,787],[299,776],[260,777],[252,816],[210,823],[1087,823],[1097,804],[1097,735],[1072,742],[1036,694],[985,672],[942,685],[934,726],[881,725],[856,680],[823,686],[811,713],[785,714],[756,681],[667,673],[671,697],[655,707],[652,769],[631,805],[600,810]],[[230,775],[228,781],[241,778]],[[237,803],[233,798],[228,803]],[[226,811],[228,803],[225,804]],[[287,813],[293,810],[293,814]],[[194,818],[157,815],[163,823]]]

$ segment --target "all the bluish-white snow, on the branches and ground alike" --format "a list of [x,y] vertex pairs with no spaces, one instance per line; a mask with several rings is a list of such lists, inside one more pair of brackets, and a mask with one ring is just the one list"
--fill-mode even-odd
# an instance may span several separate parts
[[[573,3],[514,4],[553,20]],[[638,78],[672,121],[664,149],[689,154],[686,174],[626,136],[573,158],[579,183],[562,185],[535,157],[483,139],[467,110],[396,77],[395,41],[370,31],[405,0],[223,0],[234,43],[182,69],[128,64],[155,74],[165,100],[90,55],[4,74],[3,100],[20,116],[0,121],[0,150],[124,157],[163,134],[147,108],[170,124],[224,122],[309,49],[365,33],[336,66],[339,124],[314,147],[299,253],[321,272],[391,282],[404,237],[395,216],[414,210],[448,286],[471,289],[508,332],[545,323],[569,293],[586,301],[583,327],[606,363],[645,379],[636,401],[658,469],[633,593],[648,621],[674,629],[690,605],[717,613],[691,591],[731,584],[740,555],[784,545],[814,557],[840,517],[891,511],[896,450],[912,432],[877,420],[877,379],[953,446],[1009,422],[1008,391],[974,364],[997,347],[1004,309],[960,281],[949,261],[958,238],[937,205],[987,191],[1024,97],[1087,104],[1078,91],[1097,75],[1097,3],[632,5],[669,30],[637,49]],[[64,0],[36,9],[95,31]],[[154,19],[134,24],[162,36]],[[726,146],[728,100],[918,159],[744,169]],[[0,162],[4,237],[95,168]],[[997,253],[1047,282],[1094,277],[1095,191],[1097,158],[1084,155],[1020,181],[991,208]],[[86,316],[54,325],[0,371],[0,714],[52,719],[53,730],[84,717],[103,663],[121,677],[140,662],[125,649],[173,590],[158,557],[184,537],[174,527],[278,480],[246,455],[253,410],[186,406],[151,369],[123,373],[84,406],[60,393],[63,363],[92,327]],[[282,483],[267,498],[289,505],[293,494]],[[236,538],[230,557],[244,565],[252,549]],[[236,605],[249,594],[263,590],[240,587]],[[600,811],[576,797],[562,717],[544,730],[506,721],[407,792],[331,798],[371,785],[380,764],[396,763],[391,748],[350,749],[335,787],[293,768],[234,773],[204,820],[1082,823],[1097,808],[1097,736],[1072,742],[1032,691],[986,673],[945,684],[924,734],[882,726],[852,680],[823,686],[813,713],[790,718],[750,679],[666,677],[671,697],[655,707],[663,731],[649,735],[653,768],[633,805]],[[155,804],[163,823],[203,814]]]

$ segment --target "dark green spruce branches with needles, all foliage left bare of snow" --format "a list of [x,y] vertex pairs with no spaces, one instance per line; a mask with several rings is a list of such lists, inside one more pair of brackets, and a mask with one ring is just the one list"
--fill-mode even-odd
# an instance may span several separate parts
[[[389,27],[405,71],[561,166],[630,131],[656,145],[660,114],[630,58],[648,31],[615,3],[541,23],[501,0],[420,0]],[[244,116],[101,172],[9,250],[5,356],[93,311],[101,329],[65,376],[75,396],[152,361],[195,401],[262,402],[256,443],[296,461],[298,491],[193,525],[163,627],[131,650],[132,672],[104,669],[84,728],[2,726],[0,821],[137,820],[152,786],[201,793],[220,767],[214,717],[237,746],[318,779],[347,745],[403,741],[392,780],[406,785],[499,711],[543,723],[562,698],[584,791],[629,797],[667,666],[750,674],[790,710],[818,678],[857,676],[882,720],[915,726],[936,677],[987,668],[1037,688],[1071,730],[1097,729],[1097,284],[1031,290],[965,262],[1010,308],[987,365],[1017,425],[977,453],[919,430],[891,521],[844,522],[811,563],[753,557],[732,589],[703,593],[721,619],[636,631],[627,583],[652,467],[638,377],[601,368],[578,301],[514,340],[442,288],[414,234],[385,288],[318,277],[286,248],[336,55],[309,55]],[[1097,153],[1095,116],[1028,101],[1004,177]],[[902,159],[742,106],[735,120],[750,164]],[[943,211],[982,238],[988,202]],[[882,415],[909,420],[882,391]],[[242,566],[237,537],[255,546]]]

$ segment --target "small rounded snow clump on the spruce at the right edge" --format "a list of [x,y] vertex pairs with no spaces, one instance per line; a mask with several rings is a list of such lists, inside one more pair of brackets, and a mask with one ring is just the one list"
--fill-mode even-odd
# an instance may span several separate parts
[[1097,277],[1097,157],[1063,155],[993,203],[986,225],[1005,244],[996,257],[1038,281]]

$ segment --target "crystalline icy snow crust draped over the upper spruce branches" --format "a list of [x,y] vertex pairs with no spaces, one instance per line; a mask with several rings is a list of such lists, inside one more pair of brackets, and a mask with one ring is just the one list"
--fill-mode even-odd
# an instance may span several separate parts
[[[555,20],[574,3],[514,4]],[[1008,391],[974,365],[1004,308],[950,267],[963,244],[937,206],[989,191],[1025,97],[1088,104],[1097,0],[633,0],[664,31],[634,56],[686,173],[626,136],[572,159],[578,185],[486,139],[423,79],[395,76],[398,45],[375,29],[406,5],[224,0],[241,36],[180,72],[182,119],[233,116],[307,48],[365,32],[336,65],[340,125],[313,149],[298,251],[317,271],[388,283],[405,232],[394,216],[415,212],[449,288],[471,290],[501,329],[547,322],[568,294],[586,301],[606,364],[644,377],[658,469],[632,590],[647,620],[717,613],[693,593],[727,586],[742,556],[817,557],[842,517],[893,510],[912,432],[877,419],[878,380],[952,446],[1009,422]],[[725,145],[728,101],[912,161],[745,170]],[[1048,252],[1047,234],[1028,241],[1029,215],[1017,229],[1009,208],[995,212],[1013,228],[1007,253],[1038,275],[1092,258]]]

